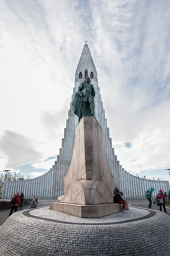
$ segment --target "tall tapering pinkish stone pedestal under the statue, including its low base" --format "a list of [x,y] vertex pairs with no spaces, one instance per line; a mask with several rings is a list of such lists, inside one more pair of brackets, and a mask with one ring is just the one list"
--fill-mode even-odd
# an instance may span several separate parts
[[[64,195],[58,197],[57,211],[84,218],[119,211],[113,204],[113,181],[104,155],[102,130],[95,117],[83,116],[75,131],[72,160],[64,176]],[[56,209],[56,203],[55,207],[50,205]]]

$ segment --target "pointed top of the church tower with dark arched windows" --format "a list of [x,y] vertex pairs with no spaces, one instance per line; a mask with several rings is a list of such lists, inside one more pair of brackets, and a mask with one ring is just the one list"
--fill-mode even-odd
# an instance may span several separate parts
[[87,76],[90,78],[91,81],[98,80],[98,75],[93,59],[91,57],[90,50],[88,48],[88,45],[85,44],[76,69],[75,81],[83,82]]

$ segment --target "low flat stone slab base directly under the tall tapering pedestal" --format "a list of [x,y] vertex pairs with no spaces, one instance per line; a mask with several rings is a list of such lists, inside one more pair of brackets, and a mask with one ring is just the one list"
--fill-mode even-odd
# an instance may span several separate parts
[[[50,209],[54,211],[64,212],[80,218],[100,218],[119,212],[123,204],[98,204],[98,205],[82,205],[68,203],[50,203]],[[128,203],[126,203],[128,210]]]

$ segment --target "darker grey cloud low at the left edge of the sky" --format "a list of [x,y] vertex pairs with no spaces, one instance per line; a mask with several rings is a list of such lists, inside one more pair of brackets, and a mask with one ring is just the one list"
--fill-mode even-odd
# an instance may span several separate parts
[[35,142],[27,136],[12,131],[4,131],[0,137],[0,150],[7,158],[5,168],[17,167],[23,164],[39,161],[42,154],[33,149]]

